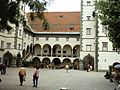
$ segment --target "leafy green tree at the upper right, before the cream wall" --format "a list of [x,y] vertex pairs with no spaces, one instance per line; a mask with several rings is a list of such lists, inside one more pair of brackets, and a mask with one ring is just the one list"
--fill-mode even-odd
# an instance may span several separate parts
[[107,26],[113,47],[120,50],[120,0],[99,0],[98,17]]

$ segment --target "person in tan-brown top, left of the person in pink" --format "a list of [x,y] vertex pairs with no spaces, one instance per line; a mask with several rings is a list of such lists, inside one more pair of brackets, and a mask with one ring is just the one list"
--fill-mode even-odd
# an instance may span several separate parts
[[19,69],[19,80],[20,80],[20,86],[23,85],[23,81],[25,81],[26,78],[26,69],[24,67],[21,67]]

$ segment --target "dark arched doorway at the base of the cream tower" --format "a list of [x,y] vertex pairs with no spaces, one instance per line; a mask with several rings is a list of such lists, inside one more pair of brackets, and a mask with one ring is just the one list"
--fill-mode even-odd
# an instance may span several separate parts
[[83,61],[84,61],[84,70],[87,69],[87,65],[88,64],[92,65],[93,70],[94,70],[94,57],[93,56],[91,56],[90,54],[88,54],[87,56],[85,56],[83,58]]

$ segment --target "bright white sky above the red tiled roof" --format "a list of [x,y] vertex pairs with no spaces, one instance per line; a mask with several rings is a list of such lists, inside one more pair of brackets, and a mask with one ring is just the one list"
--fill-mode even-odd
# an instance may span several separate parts
[[[80,11],[80,1],[81,0],[53,0],[47,6],[48,12],[76,12]],[[29,9],[26,8],[26,12],[29,12]]]

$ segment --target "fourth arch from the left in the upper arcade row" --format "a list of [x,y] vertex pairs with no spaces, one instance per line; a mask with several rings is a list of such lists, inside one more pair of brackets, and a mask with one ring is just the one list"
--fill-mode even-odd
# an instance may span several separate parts
[[63,46],[63,57],[71,57],[72,56],[72,47],[70,45]]

